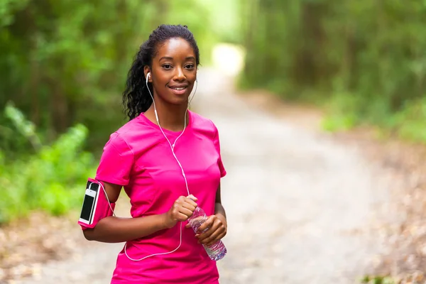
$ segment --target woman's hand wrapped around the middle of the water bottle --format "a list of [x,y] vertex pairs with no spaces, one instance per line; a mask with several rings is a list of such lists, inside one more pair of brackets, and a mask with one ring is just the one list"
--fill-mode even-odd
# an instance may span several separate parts
[[[204,231],[207,229],[207,231]],[[209,216],[200,228],[198,228],[197,234],[195,237],[198,239],[200,244],[205,244],[210,246],[226,235],[226,218],[222,214],[215,214]],[[204,231],[202,233],[202,231]]]

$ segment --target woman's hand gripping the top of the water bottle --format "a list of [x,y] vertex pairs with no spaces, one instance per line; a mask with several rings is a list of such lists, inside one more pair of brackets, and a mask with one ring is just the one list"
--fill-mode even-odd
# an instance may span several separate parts
[[165,226],[170,229],[178,222],[185,222],[197,208],[196,201],[197,197],[194,195],[180,196],[165,213]]

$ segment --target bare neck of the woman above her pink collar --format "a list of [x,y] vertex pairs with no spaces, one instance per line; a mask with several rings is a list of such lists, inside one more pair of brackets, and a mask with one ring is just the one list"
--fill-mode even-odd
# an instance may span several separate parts
[[[189,122],[189,115],[185,114],[187,111],[186,105],[173,105],[173,104],[163,104],[155,100],[155,107],[157,109],[158,120],[163,129],[168,129],[171,131],[182,131]],[[151,107],[145,112],[145,115],[151,121],[157,124],[155,119],[154,104],[151,104]],[[185,119],[185,120],[184,120]],[[184,124],[185,123],[185,124]]]

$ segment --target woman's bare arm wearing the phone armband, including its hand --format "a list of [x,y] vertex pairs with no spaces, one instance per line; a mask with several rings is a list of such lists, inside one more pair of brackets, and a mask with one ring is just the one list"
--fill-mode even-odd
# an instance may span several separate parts
[[[119,198],[121,185],[104,182],[105,191],[110,202]],[[195,197],[191,197],[195,201]],[[188,197],[179,197],[168,212],[147,217],[120,218],[106,217],[101,219],[93,229],[83,231],[89,241],[104,243],[120,243],[148,236],[163,229],[170,229],[178,221],[185,221],[197,207],[197,204]]]

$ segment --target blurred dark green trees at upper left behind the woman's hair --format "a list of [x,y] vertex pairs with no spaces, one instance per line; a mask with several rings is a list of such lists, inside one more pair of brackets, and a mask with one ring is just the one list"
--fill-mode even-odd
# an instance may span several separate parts
[[139,45],[161,23],[185,24],[206,65],[225,33],[212,28],[212,7],[218,11],[200,0],[1,1],[0,109],[12,101],[50,142],[84,124],[87,147],[97,151],[125,122],[121,92]]

